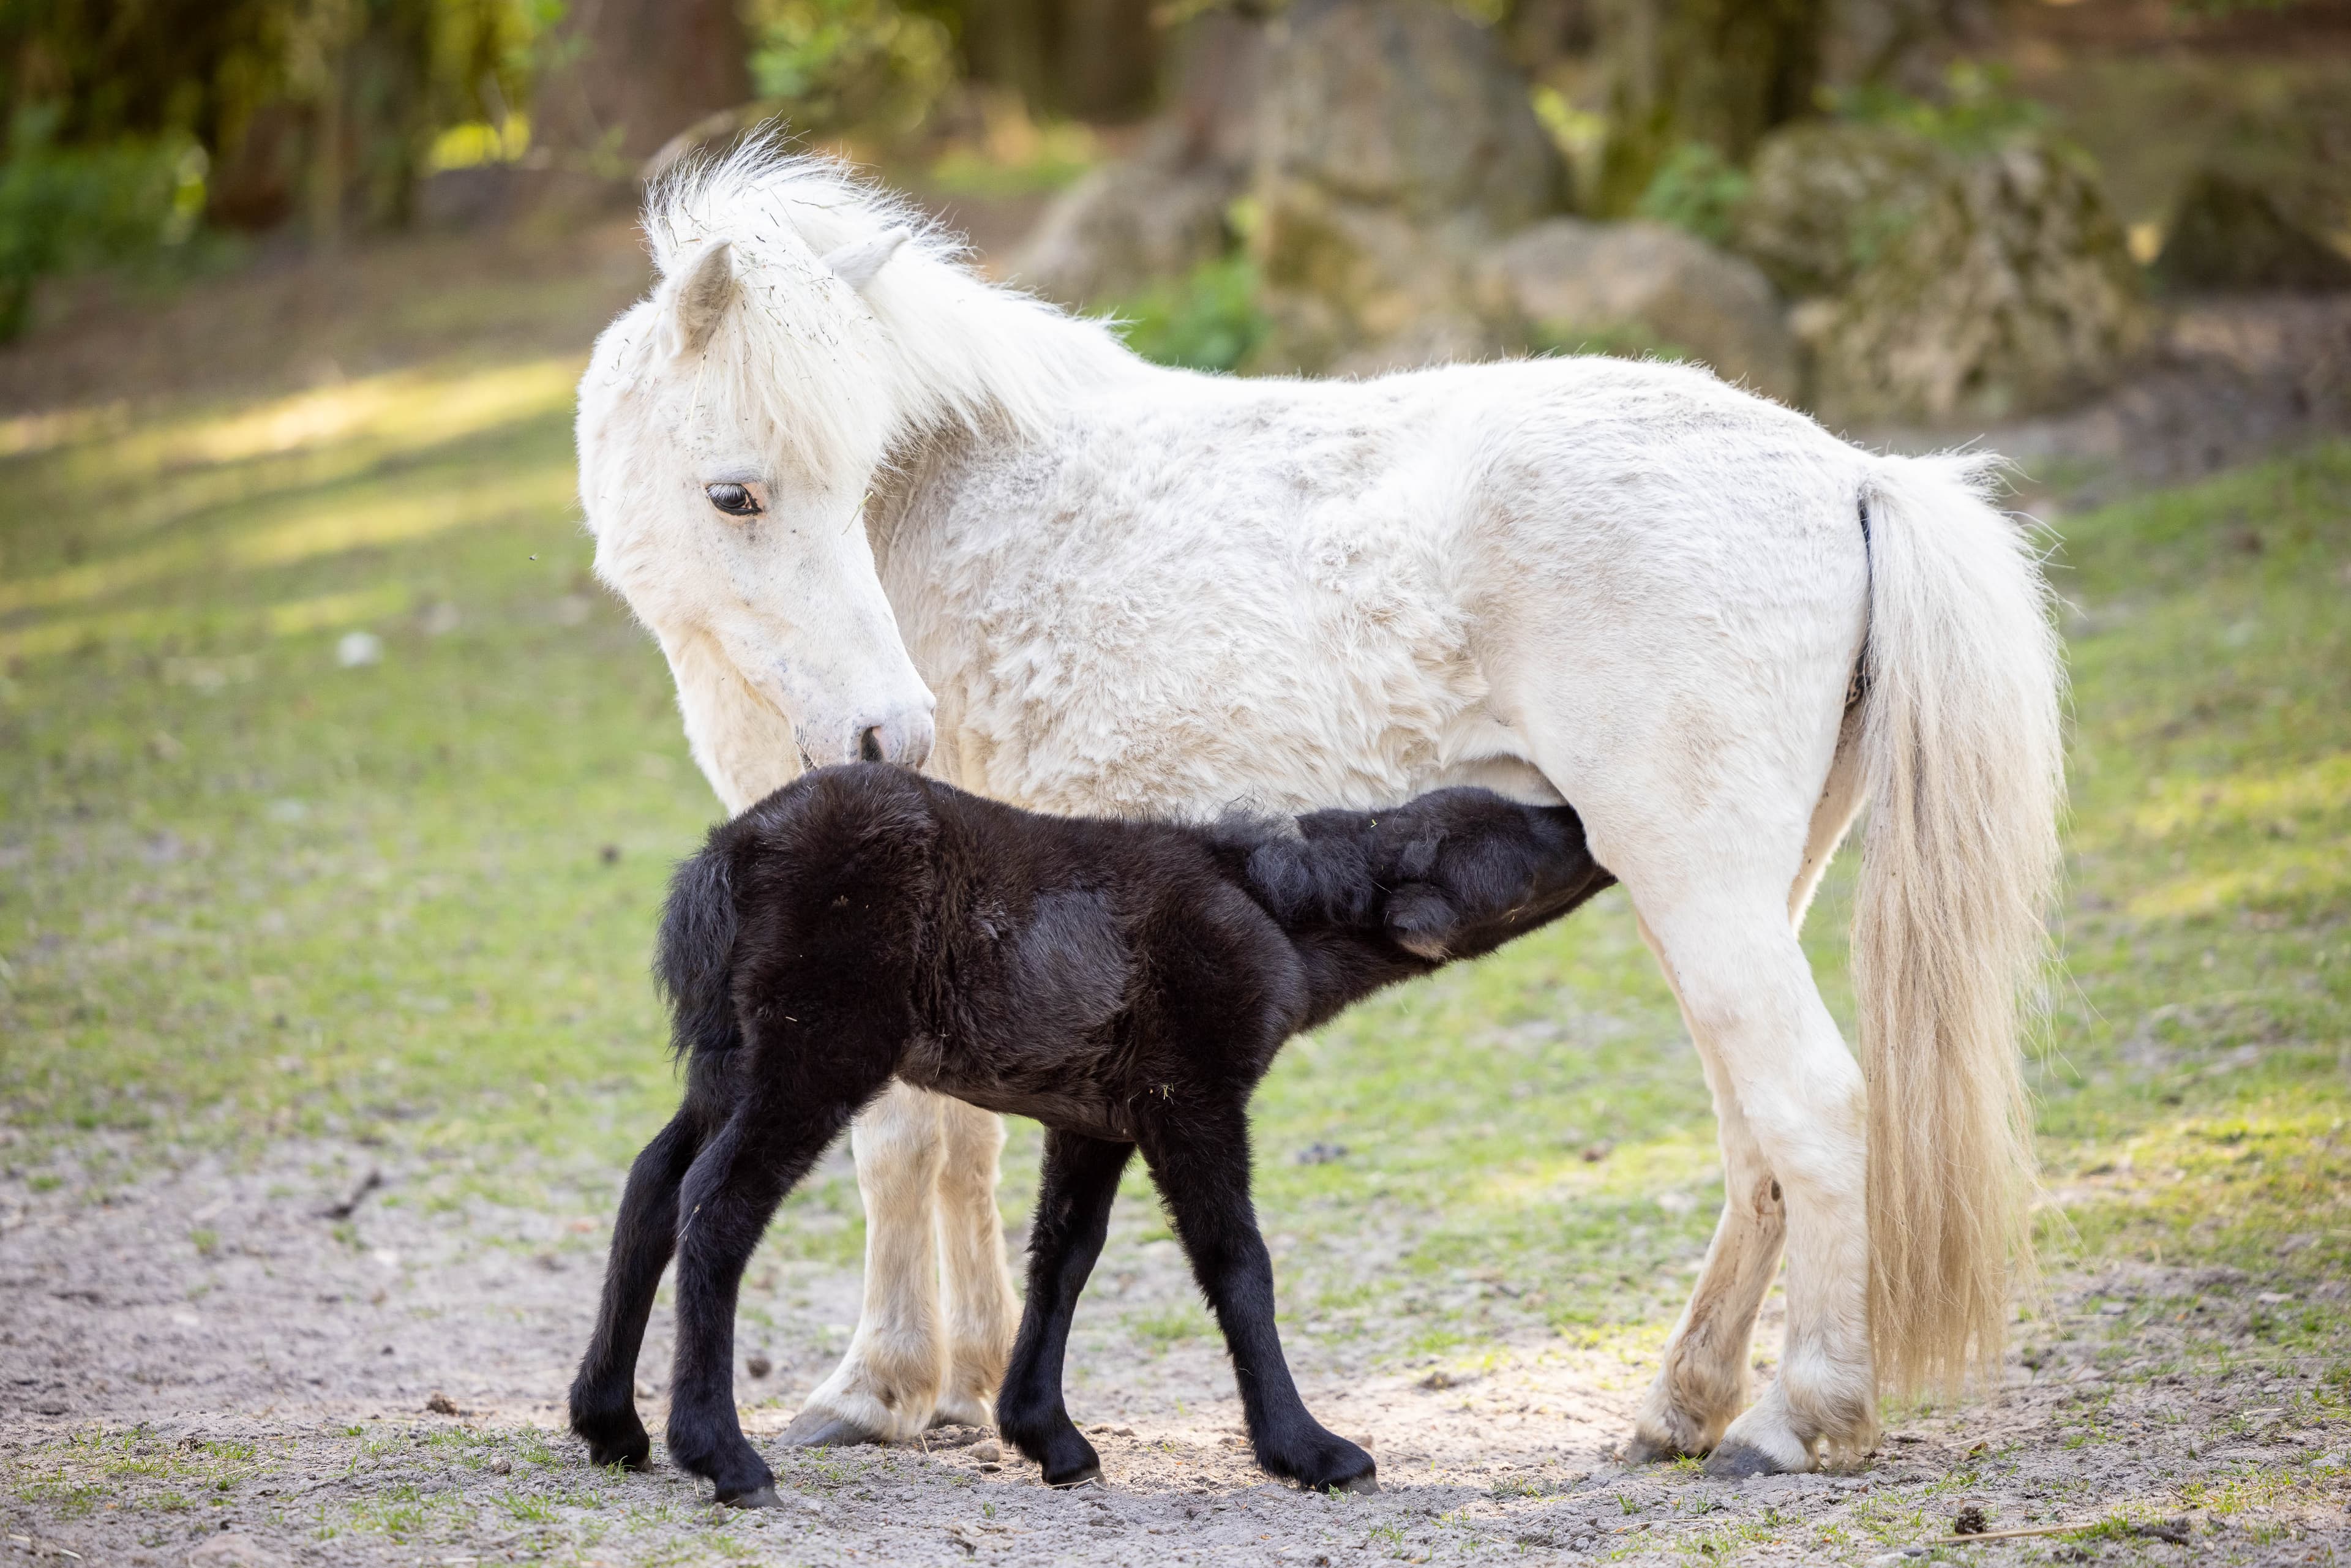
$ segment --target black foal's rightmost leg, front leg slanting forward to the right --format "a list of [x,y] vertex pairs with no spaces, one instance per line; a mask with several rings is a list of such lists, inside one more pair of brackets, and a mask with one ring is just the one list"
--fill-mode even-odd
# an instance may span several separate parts
[[1192,1112],[1180,1131],[1147,1126],[1143,1159],[1192,1260],[1192,1276],[1225,1331],[1258,1465],[1307,1490],[1380,1490],[1371,1455],[1307,1413],[1281,1356],[1274,1260],[1248,1201],[1248,1119],[1241,1107]]

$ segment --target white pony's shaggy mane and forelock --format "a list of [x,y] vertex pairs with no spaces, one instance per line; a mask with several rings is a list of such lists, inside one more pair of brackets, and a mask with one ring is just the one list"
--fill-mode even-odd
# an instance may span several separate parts
[[[893,228],[910,240],[863,289],[823,263]],[[978,277],[919,207],[773,134],[668,174],[644,233],[663,301],[731,247],[736,299],[691,369],[696,400],[771,425],[828,489],[863,489],[943,425],[1041,433],[1072,393],[1143,371],[1100,322]]]

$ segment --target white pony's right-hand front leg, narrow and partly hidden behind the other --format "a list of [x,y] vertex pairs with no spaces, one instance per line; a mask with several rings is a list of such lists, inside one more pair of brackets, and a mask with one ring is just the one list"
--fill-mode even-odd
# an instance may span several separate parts
[[1004,1260],[1004,1215],[997,1213],[1004,1119],[962,1100],[940,1100],[940,1126],[938,1253],[947,1288],[947,1387],[933,1425],[985,1427],[1020,1319]]

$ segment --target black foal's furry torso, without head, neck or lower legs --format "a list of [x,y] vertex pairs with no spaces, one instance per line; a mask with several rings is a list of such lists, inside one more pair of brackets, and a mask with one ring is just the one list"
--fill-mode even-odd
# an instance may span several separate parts
[[900,1079],[987,1110],[1133,1138],[1138,1086],[1255,1081],[1302,1020],[1295,947],[1197,827],[1037,816],[846,764],[712,851],[750,1037],[823,1016],[811,1041],[870,1041]]

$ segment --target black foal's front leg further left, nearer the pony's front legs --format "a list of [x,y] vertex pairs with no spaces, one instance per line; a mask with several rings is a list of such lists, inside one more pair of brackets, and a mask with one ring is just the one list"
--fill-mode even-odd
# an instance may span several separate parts
[[1077,1486],[1103,1474],[1093,1443],[1077,1434],[1060,1396],[1063,1354],[1077,1293],[1103,1255],[1110,1201],[1136,1145],[1046,1131],[1037,1222],[1030,1227],[1030,1295],[1020,1338],[997,1394],[997,1427],[1020,1453],[1044,1465],[1046,1486]]

